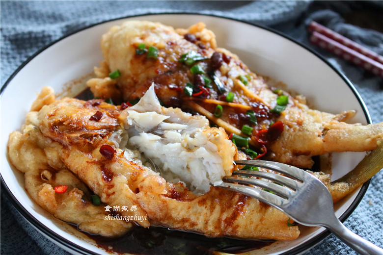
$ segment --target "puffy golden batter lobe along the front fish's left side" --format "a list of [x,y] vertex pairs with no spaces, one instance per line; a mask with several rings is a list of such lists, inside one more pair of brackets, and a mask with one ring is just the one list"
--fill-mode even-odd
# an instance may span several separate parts
[[[105,220],[108,213],[104,205],[90,202],[92,192],[60,159],[62,145],[44,136],[37,127],[38,112],[35,110],[54,101],[53,90],[44,88],[27,114],[22,132],[14,131],[9,135],[10,162],[25,173],[25,188],[31,198],[57,219],[91,234],[107,237],[125,234],[133,227],[132,223]],[[67,191],[55,192],[54,187],[61,185],[66,185]]]

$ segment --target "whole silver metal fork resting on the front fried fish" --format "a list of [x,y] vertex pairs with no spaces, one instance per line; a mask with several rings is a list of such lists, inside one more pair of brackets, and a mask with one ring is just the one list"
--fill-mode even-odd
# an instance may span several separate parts
[[[219,187],[270,204],[302,225],[326,227],[360,254],[383,255],[383,249],[347,229],[338,220],[334,213],[330,192],[325,184],[315,176],[297,167],[271,161],[237,160],[235,163],[274,170],[288,177],[264,171],[238,170],[233,171],[231,177],[223,179],[229,183],[223,182],[218,185]],[[243,178],[242,176],[258,178]],[[243,184],[261,187],[272,192]]]

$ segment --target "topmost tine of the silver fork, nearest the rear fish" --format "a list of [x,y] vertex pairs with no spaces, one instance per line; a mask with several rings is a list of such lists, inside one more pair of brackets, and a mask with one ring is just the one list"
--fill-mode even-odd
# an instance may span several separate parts
[[306,172],[302,171],[301,169],[297,167],[289,166],[289,165],[278,163],[278,162],[271,162],[271,161],[265,161],[265,160],[236,160],[234,162],[237,165],[258,166],[258,167],[274,170],[278,173],[290,176],[292,178],[296,178],[300,181],[304,180],[304,177],[306,174]]

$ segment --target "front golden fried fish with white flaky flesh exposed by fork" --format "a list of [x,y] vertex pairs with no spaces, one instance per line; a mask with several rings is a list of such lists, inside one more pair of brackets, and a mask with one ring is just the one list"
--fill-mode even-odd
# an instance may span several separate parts
[[[145,100],[145,97],[142,100]],[[146,100],[150,102],[150,99],[146,98]],[[165,163],[161,166],[162,170],[153,171],[158,162],[145,161],[142,157],[145,151],[141,152],[141,150],[146,149],[137,147],[133,142],[129,143],[129,140],[135,140],[133,138],[145,135],[151,139],[155,135],[163,139],[173,139],[173,142],[169,142],[169,144],[174,146],[181,136],[182,146],[195,153],[198,153],[199,148],[193,144],[204,143],[205,145],[202,147],[206,153],[223,153],[224,158],[217,161],[216,157],[204,158],[201,156],[198,160],[209,165],[221,165],[220,171],[223,172],[223,176],[230,175],[232,171],[232,160],[236,148],[228,140],[223,129],[209,128],[208,121],[204,120],[204,117],[192,116],[179,109],[162,107],[158,101],[151,102],[152,105],[145,106],[146,108],[140,107],[148,104],[138,103],[122,110],[120,106],[107,104],[103,100],[85,102],[64,98],[41,107],[39,111],[28,113],[28,116],[33,116],[33,118],[27,118],[30,120],[27,124],[31,129],[41,133],[39,137],[45,141],[38,143],[40,149],[36,151],[37,153],[50,149],[55,151],[54,157],[46,156],[52,160],[51,163],[47,163],[50,169],[54,169],[52,171],[67,169],[66,172],[73,173],[72,177],[79,178],[92,192],[100,196],[103,203],[109,206],[135,206],[137,208],[135,211],[115,211],[114,213],[143,218],[147,216],[147,220],[136,221],[142,227],[149,227],[151,224],[162,225],[173,229],[200,232],[207,236],[226,235],[276,240],[291,240],[298,237],[300,233],[298,227],[287,226],[288,216],[272,206],[254,198],[216,187],[211,187],[203,195],[193,194],[186,187],[192,187],[192,182],[174,184],[160,176],[159,172],[165,171],[167,168],[168,173],[172,171],[169,165],[165,166],[165,163],[170,164],[166,160],[163,160]],[[148,109],[152,111],[147,111]],[[136,113],[133,113],[134,111]],[[94,117],[100,116],[97,112],[102,113],[101,117]],[[140,122],[137,114],[148,112],[151,112],[153,122],[159,117],[158,112],[164,113],[167,118],[156,127],[149,127],[146,130],[145,128],[148,128],[146,125],[150,123]],[[188,116],[189,123],[184,119]],[[187,127],[182,127],[181,123],[186,124],[184,126]],[[121,130],[124,132],[123,134],[121,134]],[[176,135],[174,130],[178,130],[180,135]],[[206,134],[206,130],[209,134]],[[11,137],[13,136],[11,135]],[[126,142],[127,139],[128,142]],[[9,141],[9,154],[14,161],[20,161],[19,153],[21,151],[17,149],[17,144],[17,136]],[[166,146],[169,144],[164,144],[163,150],[166,150]],[[103,146],[112,148],[112,153],[108,154],[103,151],[101,149]],[[187,153],[185,157],[187,157],[186,155]],[[170,153],[168,156],[171,156]],[[198,161],[192,156],[187,158],[185,164],[190,164],[186,169],[194,171],[193,166]],[[179,158],[179,160],[184,159]],[[15,166],[22,170],[22,166],[17,164]],[[40,168],[31,166],[33,171],[39,171],[36,169]],[[221,172],[216,174],[218,173]],[[176,174],[174,175],[177,177]],[[41,180],[36,177],[36,180],[33,181],[39,183],[38,181]],[[68,190],[70,190],[71,186],[68,186]],[[79,186],[78,189],[80,188]],[[60,196],[70,197],[67,192]],[[38,199],[35,200],[39,202]],[[60,203],[61,201],[56,201],[56,204]],[[45,206],[44,203],[39,204]],[[50,206],[44,208],[49,210]],[[108,222],[114,221],[105,221],[105,223]]]

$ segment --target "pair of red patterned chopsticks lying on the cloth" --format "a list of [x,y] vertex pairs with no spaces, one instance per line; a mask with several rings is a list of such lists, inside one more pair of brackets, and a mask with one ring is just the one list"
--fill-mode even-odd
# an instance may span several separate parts
[[383,56],[314,21],[310,23],[307,30],[312,32],[311,43],[383,77]]

